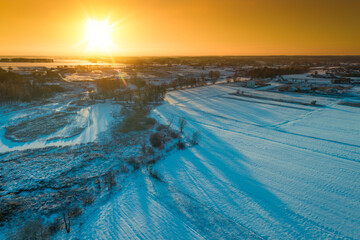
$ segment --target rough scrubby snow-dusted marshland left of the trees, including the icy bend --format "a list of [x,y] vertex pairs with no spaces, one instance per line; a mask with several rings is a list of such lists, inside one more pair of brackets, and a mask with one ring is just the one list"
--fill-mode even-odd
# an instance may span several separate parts
[[126,160],[138,154],[136,138],[114,130],[122,106],[81,100],[84,95],[74,89],[1,106],[0,239],[19,239],[28,219],[54,222],[64,206],[82,209],[105,198],[108,173],[117,173],[119,188],[131,174]]

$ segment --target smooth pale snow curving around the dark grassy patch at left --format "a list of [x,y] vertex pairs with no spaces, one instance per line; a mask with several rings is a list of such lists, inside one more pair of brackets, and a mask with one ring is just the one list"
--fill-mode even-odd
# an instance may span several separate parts
[[[65,111],[68,104],[47,104],[45,106],[13,111],[1,114],[0,153],[50,146],[69,146],[80,143],[94,142],[102,132],[105,132],[113,121],[113,113],[119,112],[120,105],[111,103],[97,103],[81,107],[76,112],[75,120],[59,129],[57,132],[43,136],[32,142],[14,142],[5,137],[6,126],[49,114],[49,112]],[[26,121],[26,120],[25,120]],[[76,129],[83,129],[74,135]]]

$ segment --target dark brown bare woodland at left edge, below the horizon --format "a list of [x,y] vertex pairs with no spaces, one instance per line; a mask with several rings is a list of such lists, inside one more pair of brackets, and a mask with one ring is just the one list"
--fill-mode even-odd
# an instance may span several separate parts
[[36,80],[24,79],[21,75],[0,68],[0,102],[31,101],[49,97],[64,91],[57,85],[44,85]]

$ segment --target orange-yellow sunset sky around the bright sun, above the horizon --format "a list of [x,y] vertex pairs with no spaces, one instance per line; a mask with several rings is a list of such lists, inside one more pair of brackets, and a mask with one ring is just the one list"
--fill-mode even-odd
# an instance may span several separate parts
[[0,55],[82,55],[88,17],[111,54],[359,55],[359,0],[0,0]]

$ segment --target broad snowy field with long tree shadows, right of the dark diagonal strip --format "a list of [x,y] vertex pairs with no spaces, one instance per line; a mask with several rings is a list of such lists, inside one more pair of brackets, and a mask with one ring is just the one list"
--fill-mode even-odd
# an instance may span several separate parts
[[203,136],[159,166],[164,178],[264,237],[359,236],[360,109],[208,98],[214,88],[174,92],[181,100],[155,110]]

